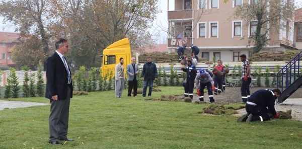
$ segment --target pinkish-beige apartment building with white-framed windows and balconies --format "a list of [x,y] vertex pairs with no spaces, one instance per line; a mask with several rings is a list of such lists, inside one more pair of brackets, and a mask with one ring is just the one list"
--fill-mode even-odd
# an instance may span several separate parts
[[[213,56],[224,62],[239,61],[241,54],[252,56],[253,43],[247,45],[249,37],[255,34],[257,20],[246,23],[232,16],[238,6],[255,1],[175,0],[174,11],[168,11],[167,47],[171,50],[194,44],[200,49],[198,56],[209,61]],[[280,24],[286,28],[268,34],[270,41],[266,50],[294,49],[293,19],[280,20]]]

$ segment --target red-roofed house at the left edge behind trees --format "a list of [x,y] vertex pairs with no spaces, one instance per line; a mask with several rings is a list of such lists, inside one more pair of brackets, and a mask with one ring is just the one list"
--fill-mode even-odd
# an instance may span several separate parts
[[0,67],[15,67],[12,60],[12,49],[15,45],[21,44],[18,33],[0,32]]

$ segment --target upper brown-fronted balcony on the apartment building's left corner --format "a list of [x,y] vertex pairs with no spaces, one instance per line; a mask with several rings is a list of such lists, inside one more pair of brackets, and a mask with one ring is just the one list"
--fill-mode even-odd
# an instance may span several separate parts
[[192,20],[192,10],[168,11],[168,20]]

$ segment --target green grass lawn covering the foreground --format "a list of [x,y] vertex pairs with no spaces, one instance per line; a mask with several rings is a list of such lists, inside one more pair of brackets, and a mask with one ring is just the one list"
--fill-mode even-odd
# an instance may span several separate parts
[[[182,95],[183,87],[160,87],[153,98]],[[209,104],[114,98],[114,91],[74,96],[68,138],[48,143],[49,105],[0,111],[0,148],[300,148],[302,123],[273,119],[237,123],[233,115],[198,114]],[[43,97],[9,99],[48,103]],[[239,104],[232,105],[238,107]]]

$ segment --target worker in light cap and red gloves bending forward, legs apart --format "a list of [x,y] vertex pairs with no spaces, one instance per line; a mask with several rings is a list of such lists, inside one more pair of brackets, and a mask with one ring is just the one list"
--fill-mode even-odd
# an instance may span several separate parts
[[[200,84],[199,84],[199,82],[200,82]],[[200,101],[203,101],[203,94],[204,94],[203,90],[205,87],[208,90],[208,95],[209,95],[211,104],[214,104],[215,100],[214,100],[213,92],[212,92],[215,90],[214,81],[207,71],[200,68],[199,73],[197,74],[197,76],[195,78],[195,88],[197,90],[197,94],[199,95]]]

